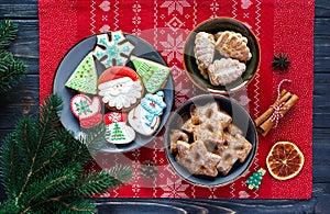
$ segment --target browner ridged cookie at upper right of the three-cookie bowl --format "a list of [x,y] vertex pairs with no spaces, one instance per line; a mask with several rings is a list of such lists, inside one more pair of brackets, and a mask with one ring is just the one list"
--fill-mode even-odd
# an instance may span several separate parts
[[235,58],[240,61],[248,61],[252,57],[248,47],[248,38],[242,36],[242,34],[224,31],[217,33],[216,37],[216,49],[222,56]]

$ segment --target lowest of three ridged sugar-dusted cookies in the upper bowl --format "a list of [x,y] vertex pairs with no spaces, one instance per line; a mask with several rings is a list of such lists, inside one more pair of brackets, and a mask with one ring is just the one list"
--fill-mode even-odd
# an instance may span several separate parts
[[224,86],[238,78],[245,71],[246,66],[238,59],[216,59],[208,68],[210,82],[213,86]]

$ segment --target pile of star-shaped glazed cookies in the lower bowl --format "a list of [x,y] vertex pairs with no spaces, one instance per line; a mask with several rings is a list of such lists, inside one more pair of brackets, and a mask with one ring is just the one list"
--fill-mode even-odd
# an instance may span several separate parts
[[244,162],[252,144],[217,101],[191,104],[189,116],[169,134],[169,153],[193,174],[226,176]]

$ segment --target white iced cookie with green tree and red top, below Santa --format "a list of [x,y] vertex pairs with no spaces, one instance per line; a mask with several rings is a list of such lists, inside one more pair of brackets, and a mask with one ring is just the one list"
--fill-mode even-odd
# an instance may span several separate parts
[[103,121],[107,125],[107,142],[112,144],[128,144],[134,140],[135,132],[132,127],[127,125],[128,115],[125,113],[107,113]]

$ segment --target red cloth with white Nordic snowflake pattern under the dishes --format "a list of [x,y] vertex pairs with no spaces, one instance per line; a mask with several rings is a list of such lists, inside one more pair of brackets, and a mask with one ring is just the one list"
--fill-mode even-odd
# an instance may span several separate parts
[[[245,22],[260,40],[262,63],[246,91],[234,94],[253,119],[261,115],[284,88],[299,97],[296,105],[266,137],[260,137],[256,158],[241,179],[221,188],[201,188],[184,181],[174,172],[164,154],[162,134],[145,147],[125,154],[105,154],[101,166],[128,164],[136,178],[127,187],[100,196],[111,198],[250,198],[309,199],[312,190],[312,41],[311,0],[40,0],[40,99],[52,92],[56,67],[80,40],[94,33],[122,30],[151,43],[172,67],[175,108],[197,93],[183,70],[183,47],[190,30],[213,16],[231,16]],[[287,53],[289,71],[273,71],[274,54]],[[305,165],[294,179],[278,181],[266,173],[260,190],[249,190],[245,180],[261,167],[274,143],[296,143]],[[109,160],[111,164],[109,164]],[[155,178],[141,173],[142,164],[155,162]],[[103,162],[102,162],[103,161]],[[92,170],[97,166],[91,166]]]

